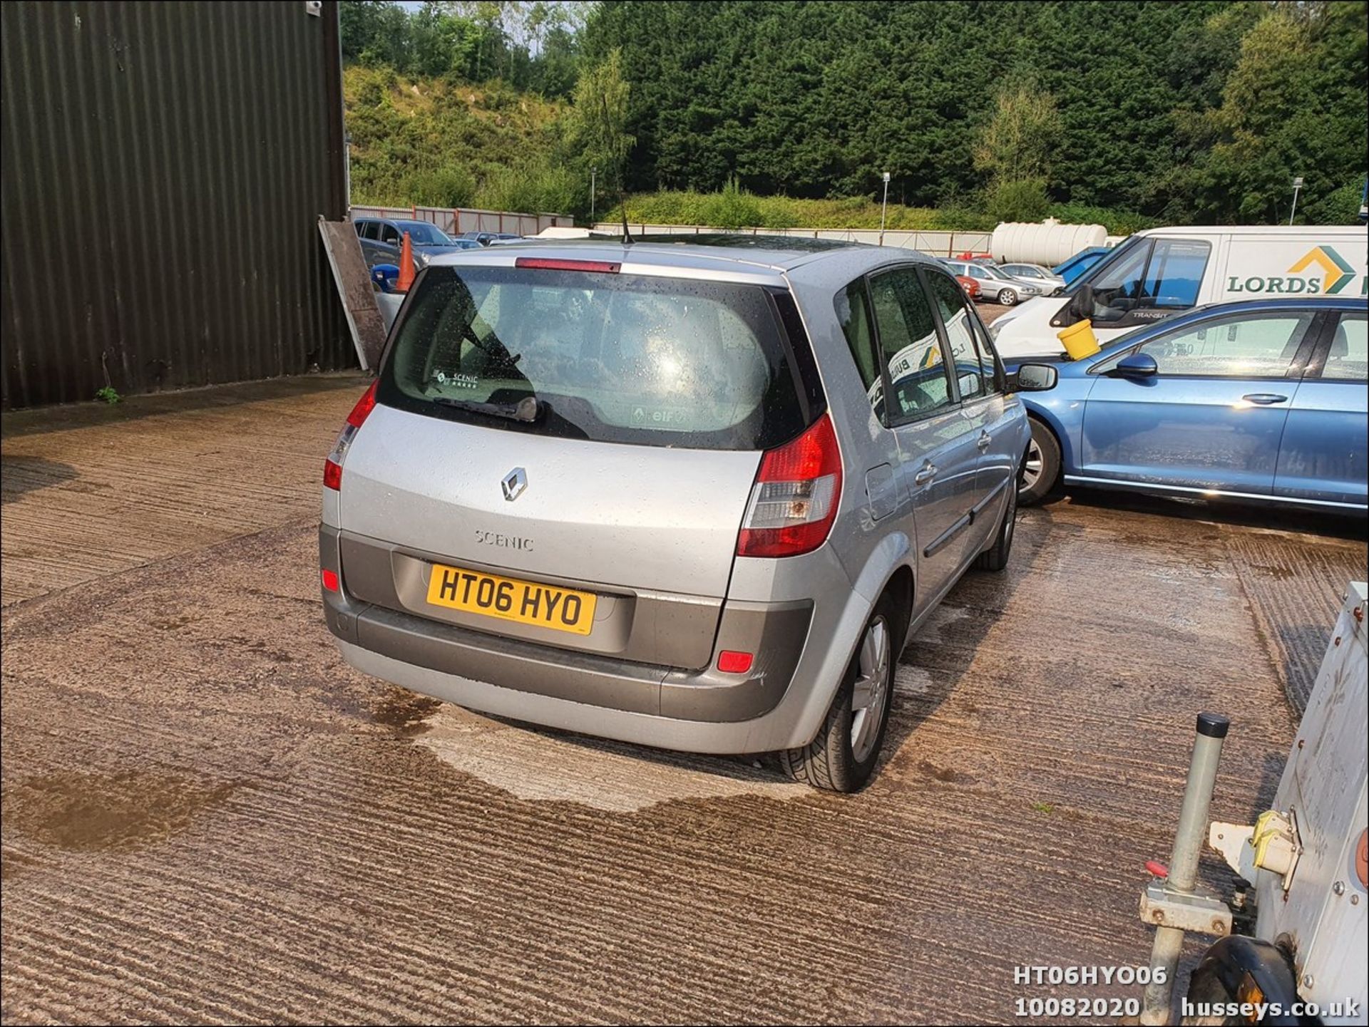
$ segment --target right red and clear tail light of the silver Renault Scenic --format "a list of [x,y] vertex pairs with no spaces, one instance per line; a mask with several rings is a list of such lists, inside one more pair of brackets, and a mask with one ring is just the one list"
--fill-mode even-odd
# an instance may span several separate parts
[[830,414],[761,457],[738,557],[797,557],[824,542],[842,498],[842,454]]

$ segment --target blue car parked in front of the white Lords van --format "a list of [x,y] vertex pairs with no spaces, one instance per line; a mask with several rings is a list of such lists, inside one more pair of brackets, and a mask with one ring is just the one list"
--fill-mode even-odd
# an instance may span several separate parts
[[1366,511],[1364,298],[1201,306],[1079,361],[1024,362],[1019,501],[1062,485]]

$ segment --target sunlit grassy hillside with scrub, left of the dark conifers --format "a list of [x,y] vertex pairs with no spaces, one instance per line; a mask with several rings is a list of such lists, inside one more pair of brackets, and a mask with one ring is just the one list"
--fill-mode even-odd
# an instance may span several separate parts
[[574,183],[559,182],[548,167],[563,104],[500,82],[407,78],[360,66],[344,71],[342,89],[352,202],[504,211],[572,202]]

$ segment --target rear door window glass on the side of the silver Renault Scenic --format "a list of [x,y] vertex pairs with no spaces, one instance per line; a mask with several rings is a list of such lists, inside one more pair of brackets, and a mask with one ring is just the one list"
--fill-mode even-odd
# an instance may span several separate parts
[[888,371],[893,421],[908,421],[951,405],[932,308],[916,268],[871,279],[880,360]]

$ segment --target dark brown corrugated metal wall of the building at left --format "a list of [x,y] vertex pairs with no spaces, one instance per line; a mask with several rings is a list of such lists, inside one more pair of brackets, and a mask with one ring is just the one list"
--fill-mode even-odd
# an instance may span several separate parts
[[5,408],[355,365],[322,7],[0,4]]

